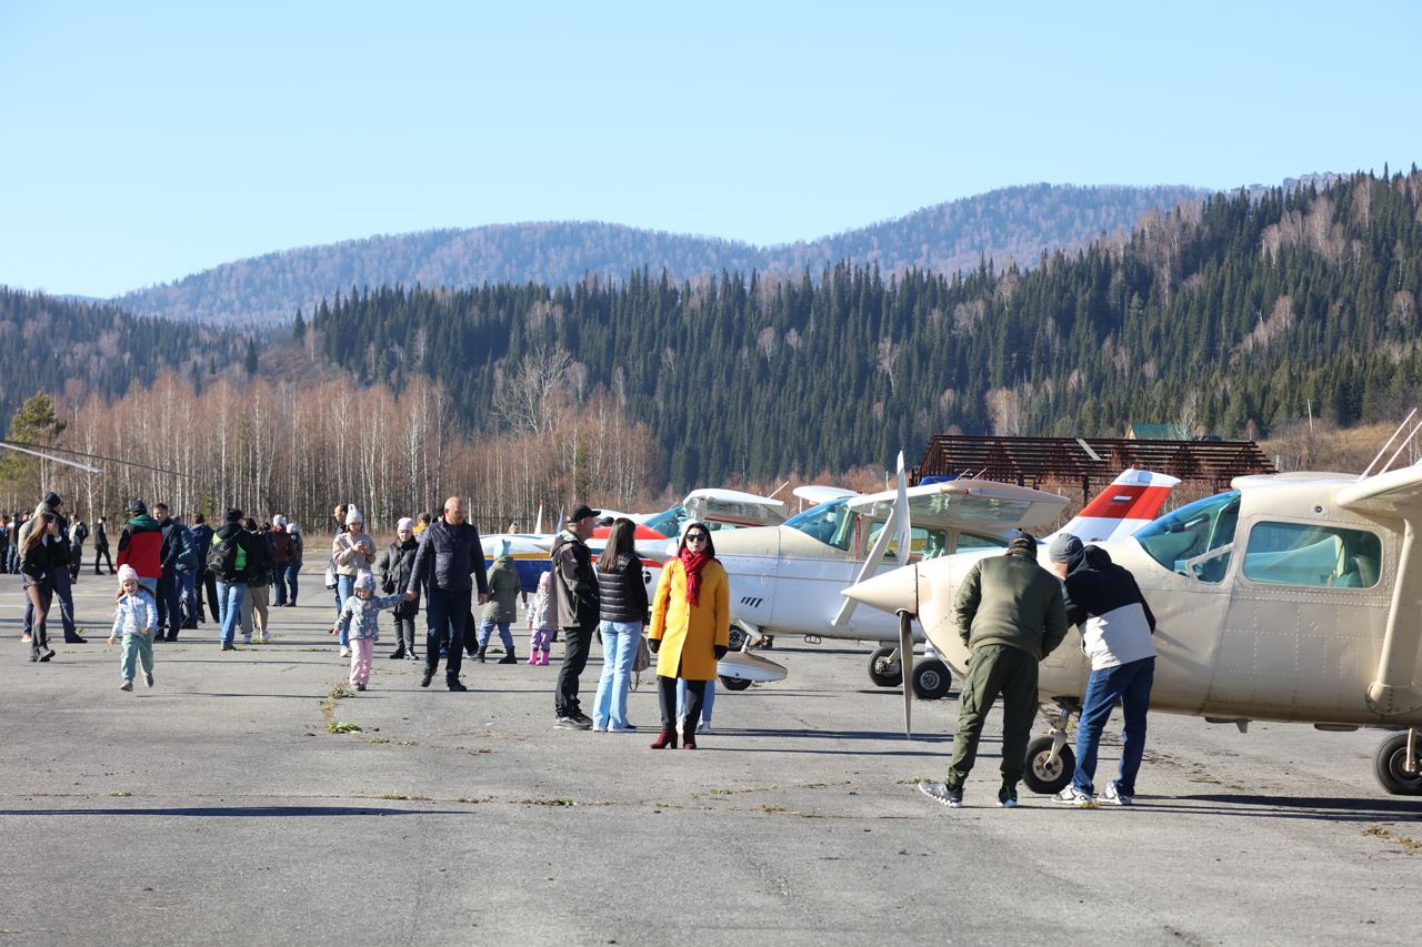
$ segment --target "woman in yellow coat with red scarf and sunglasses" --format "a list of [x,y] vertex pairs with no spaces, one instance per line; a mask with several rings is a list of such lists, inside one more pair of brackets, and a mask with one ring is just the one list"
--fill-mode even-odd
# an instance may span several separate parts
[[661,734],[653,749],[677,745],[677,678],[687,683],[688,721],[681,734],[685,749],[697,748],[697,721],[707,681],[731,643],[731,582],[715,559],[705,523],[691,523],[681,535],[677,557],[667,562],[651,600],[647,647],[657,656],[657,697]]

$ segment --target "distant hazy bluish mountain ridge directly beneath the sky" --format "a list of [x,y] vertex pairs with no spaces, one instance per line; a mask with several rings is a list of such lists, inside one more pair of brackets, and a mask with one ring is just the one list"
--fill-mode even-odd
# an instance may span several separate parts
[[128,293],[135,313],[183,321],[270,324],[297,307],[353,287],[384,284],[472,287],[483,283],[572,284],[648,267],[674,280],[721,270],[801,273],[818,279],[840,260],[892,273],[919,267],[954,273],[991,259],[998,267],[1035,264],[1044,252],[1082,246],[1129,229],[1150,209],[1206,192],[1183,186],[1076,188],[1031,185],[926,208],[896,220],[812,242],[757,247],[712,237],[640,230],[613,223],[513,223],[425,230],[269,253]]

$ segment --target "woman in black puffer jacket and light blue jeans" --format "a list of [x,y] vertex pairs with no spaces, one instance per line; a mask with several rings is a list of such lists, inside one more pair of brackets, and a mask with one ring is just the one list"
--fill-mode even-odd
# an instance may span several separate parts
[[613,523],[607,546],[597,557],[597,589],[602,600],[603,677],[597,683],[593,729],[610,734],[636,732],[627,722],[627,690],[631,663],[641,644],[647,621],[647,586],[636,549],[637,525],[626,516]]

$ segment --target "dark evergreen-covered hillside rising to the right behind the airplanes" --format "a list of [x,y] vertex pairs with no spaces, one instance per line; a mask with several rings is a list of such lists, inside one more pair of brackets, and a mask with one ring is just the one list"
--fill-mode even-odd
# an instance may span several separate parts
[[887,464],[937,431],[1254,435],[1308,401],[1348,425],[1419,395],[1419,220],[1413,168],[1216,195],[1031,270],[381,287],[314,328],[370,381],[442,380],[486,429],[549,385],[604,388],[678,489]]

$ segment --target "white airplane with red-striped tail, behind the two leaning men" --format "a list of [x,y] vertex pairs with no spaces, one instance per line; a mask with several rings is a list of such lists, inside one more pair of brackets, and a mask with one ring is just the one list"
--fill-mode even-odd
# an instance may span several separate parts
[[[1068,528],[1092,537],[1129,535],[1155,518],[1176,483],[1163,474],[1125,471]],[[894,519],[900,496],[912,510],[907,537]],[[870,656],[869,677],[879,687],[897,687],[903,681],[897,620],[877,611],[850,620],[853,603],[840,593],[894,557],[907,563],[968,549],[1001,550],[1018,529],[1055,522],[1068,503],[1057,493],[960,478],[902,493],[839,496],[779,526],[717,533],[717,559],[731,577],[731,620],[744,631],[732,633],[732,650],[748,650],[762,634],[890,643]],[[654,582],[651,569],[647,579]],[[930,658],[910,681],[919,697],[931,700],[948,691],[951,677]]]

